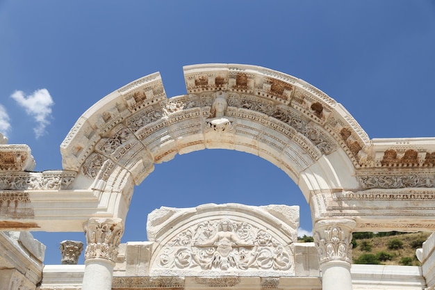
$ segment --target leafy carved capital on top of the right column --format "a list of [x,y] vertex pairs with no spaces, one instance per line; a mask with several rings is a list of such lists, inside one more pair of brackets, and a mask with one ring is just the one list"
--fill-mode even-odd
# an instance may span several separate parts
[[319,263],[345,261],[352,264],[352,229],[354,220],[320,220],[314,226],[314,243]]

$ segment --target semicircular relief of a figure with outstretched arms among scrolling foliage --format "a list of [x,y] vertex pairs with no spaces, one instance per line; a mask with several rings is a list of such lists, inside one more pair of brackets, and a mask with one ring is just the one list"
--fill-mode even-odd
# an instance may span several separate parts
[[266,229],[247,222],[208,220],[177,234],[158,254],[158,268],[288,271],[293,252]]

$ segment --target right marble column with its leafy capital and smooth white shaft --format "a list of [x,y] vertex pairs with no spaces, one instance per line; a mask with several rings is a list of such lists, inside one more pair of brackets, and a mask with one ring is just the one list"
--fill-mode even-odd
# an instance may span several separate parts
[[352,290],[352,219],[318,220],[313,238],[318,250],[322,290]]

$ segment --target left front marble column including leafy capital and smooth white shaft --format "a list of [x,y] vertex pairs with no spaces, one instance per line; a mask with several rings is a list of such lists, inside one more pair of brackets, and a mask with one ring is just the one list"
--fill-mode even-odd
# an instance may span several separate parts
[[124,226],[120,218],[90,218],[86,235],[85,273],[82,290],[112,289],[113,267]]

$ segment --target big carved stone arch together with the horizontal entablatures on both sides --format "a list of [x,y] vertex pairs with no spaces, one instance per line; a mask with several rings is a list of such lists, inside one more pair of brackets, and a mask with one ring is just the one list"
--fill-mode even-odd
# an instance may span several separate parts
[[30,172],[26,145],[1,145],[1,229],[85,223],[110,233],[115,255],[133,188],[154,163],[223,148],[270,161],[301,188],[322,263],[349,264],[328,243],[348,243],[352,231],[434,230],[435,138],[370,140],[324,92],[264,67],[190,65],[184,75],[186,95],[168,99],[154,73],[88,109],[60,146],[63,170]]

